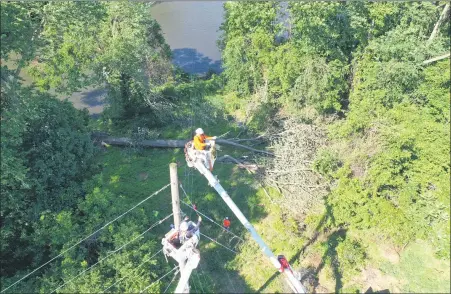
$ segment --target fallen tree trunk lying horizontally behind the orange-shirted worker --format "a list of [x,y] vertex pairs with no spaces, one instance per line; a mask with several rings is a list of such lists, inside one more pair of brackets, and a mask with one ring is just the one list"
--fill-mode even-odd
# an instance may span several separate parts
[[[130,138],[111,138],[111,137],[101,137],[100,140],[108,145],[113,146],[138,146],[138,147],[151,147],[151,148],[184,148],[187,140],[140,140],[133,141]],[[274,156],[273,153],[254,149],[252,147],[231,142],[225,139],[217,139],[216,143],[230,145],[238,148],[247,149],[252,152],[262,153],[269,156]]]

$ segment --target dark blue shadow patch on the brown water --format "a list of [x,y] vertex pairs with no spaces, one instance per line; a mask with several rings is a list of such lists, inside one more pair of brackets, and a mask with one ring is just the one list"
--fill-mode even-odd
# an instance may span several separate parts
[[209,71],[222,72],[220,60],[213,61],[194,48],[172,50],[172,61],[185,72],[191,74],[206,74]]

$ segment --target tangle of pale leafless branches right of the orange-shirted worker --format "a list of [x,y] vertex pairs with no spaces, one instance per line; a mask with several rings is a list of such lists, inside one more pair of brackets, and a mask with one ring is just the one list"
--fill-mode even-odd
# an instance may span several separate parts
[[275,156],[261,169],[264,182],[283,195],[283,208],[302,219],[307,211],[319,207],[327,192],[327,184],[312,170],[312,160],[325,144],[325,132],[312,124],[287,120],[283,129],[267,138]]

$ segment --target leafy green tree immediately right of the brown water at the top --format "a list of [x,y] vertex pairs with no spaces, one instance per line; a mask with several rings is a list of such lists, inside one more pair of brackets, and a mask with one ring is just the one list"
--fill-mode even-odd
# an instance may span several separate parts
[[268,79],[269,60],[280,31],[276,22],[279,4],[226,3],[219,41],[227,88],[249,95]]

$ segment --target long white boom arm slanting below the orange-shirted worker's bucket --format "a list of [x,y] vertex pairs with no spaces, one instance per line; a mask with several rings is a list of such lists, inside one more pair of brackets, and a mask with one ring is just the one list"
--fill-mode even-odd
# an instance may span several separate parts
[[[262,252],[269,258],[271,263],[274,265],[274,267],[277,270],[280,270],[281,264],[279,260],[277,260],[274,253],[272,253],[271,249],[265,244],[263,239],[260,237],[260,235],[257,233],[257,231],[254,229],[252,224],[247,220],[247,218],[244,216],[244,214],[241,212],[241,210],[236,206],[235,202],[233,202],[232,198],[227,194],[227,192],[224,190],[224,188],[219,184],[218,179],[213,176],[213,174],[200,162],[200,160],[196,160],[194,162],[194,167],[207,178],[208,183],[210,186],[212,186],[216,192],[222,197],[224,202],[229,206],[229,208],[233,211],[233,213],[236,215],[236,217],[240,220],[240,222],[243,224],[243,226],[251,233],[252,238],[257,242],[257,244],[262,249]],[[295,293],[306,293],[306,289],[301,284],[301,282],[295,278],[293,273],[289,270],[285,270],[283,272],[287,278],[287,281],[289,282],[290,288]]]

